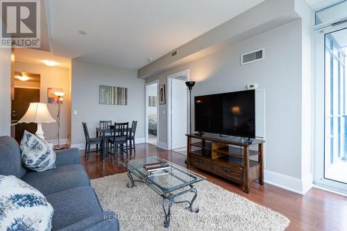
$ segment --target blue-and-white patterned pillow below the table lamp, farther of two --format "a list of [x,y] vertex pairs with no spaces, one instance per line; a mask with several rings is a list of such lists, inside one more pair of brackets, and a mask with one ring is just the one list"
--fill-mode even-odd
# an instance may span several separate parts
[[56,168],[56,151],[53,144],[31,134],[31,132],[24,131],[20,150],[22,163],[27,169],[46,171]]

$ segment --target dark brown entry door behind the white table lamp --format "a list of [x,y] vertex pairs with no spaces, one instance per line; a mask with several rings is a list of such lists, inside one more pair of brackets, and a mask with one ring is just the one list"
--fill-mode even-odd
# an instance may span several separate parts
[[[28,110],[29,104],[33,102],[40,102],[40,89],[15,88],[15,99],[11,102],[11,121],[17,123]],[[24,130],[35,133],[36,129],[36,123],[18,123],[15,126],[15,139],[20,142]]]

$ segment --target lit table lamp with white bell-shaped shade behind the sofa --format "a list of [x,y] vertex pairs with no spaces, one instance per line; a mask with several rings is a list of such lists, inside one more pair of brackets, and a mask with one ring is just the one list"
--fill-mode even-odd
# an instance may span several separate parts
[[42,139],[44,139],[42,123],[53,122],[56,122],[56,120],[49,114],[46,103],[30,103],[28,110],[25,112],[22,119],[18,121],[18,123],[37,123],[35,135]]

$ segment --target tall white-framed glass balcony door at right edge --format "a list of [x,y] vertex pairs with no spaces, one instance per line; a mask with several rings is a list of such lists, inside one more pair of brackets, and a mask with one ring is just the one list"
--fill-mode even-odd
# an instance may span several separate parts
[[316,32],[315,182],[347,194],[347,24]]

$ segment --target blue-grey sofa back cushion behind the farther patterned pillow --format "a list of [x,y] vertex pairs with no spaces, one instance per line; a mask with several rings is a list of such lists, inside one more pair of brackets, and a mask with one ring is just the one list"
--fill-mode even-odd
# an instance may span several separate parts
[[22,178],[26,169],[22,166],[19,145],[12,137],[0,137],[0,175]]

